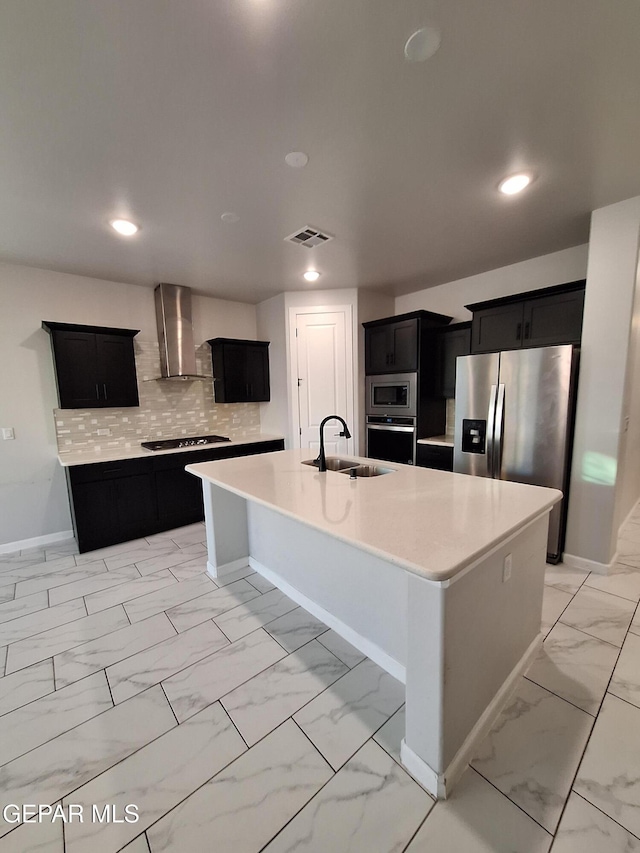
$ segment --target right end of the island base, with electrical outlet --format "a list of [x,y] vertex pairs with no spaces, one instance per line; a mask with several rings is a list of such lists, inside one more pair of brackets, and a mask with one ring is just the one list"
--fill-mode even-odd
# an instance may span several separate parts
[[539,645],[547,526],[546,515],[523,526],[448,583],[408,576],[405,740],[431,772],[418,781],[438,780],[435,796],[451,790],[453,769],[464,769]]

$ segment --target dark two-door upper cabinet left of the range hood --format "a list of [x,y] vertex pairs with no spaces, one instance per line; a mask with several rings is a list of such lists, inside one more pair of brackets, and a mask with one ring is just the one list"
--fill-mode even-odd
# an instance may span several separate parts
[[61,409],[139,406],[133,338],[137,329],[43,321],[51,335]]

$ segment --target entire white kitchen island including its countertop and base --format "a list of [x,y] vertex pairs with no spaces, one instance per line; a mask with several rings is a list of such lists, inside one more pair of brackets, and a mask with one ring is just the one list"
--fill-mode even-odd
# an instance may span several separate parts
[[352,480],[311,456],[187,467],[208,571],[251,566],[404,682],[402,760],[446,797],[539,648],[561,492],[395,463]]

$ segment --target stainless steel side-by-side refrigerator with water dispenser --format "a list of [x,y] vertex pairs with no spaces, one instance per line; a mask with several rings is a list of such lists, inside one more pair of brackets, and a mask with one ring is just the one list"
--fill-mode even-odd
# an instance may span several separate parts
[[565,345],[460,356],[453,470],[561,489],[548,559],[562,556],[578,348]]

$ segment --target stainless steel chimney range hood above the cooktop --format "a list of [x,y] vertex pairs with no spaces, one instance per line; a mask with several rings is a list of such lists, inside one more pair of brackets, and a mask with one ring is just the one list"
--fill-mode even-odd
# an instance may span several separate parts
[[191,322],[191,289],[159,284],[155,289],[156,320],[162,379],[208,379],[196,372],[196,348]]

